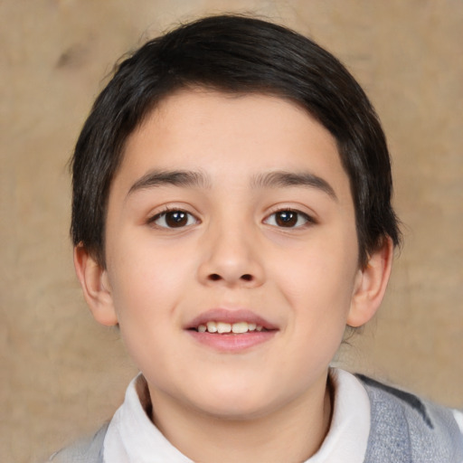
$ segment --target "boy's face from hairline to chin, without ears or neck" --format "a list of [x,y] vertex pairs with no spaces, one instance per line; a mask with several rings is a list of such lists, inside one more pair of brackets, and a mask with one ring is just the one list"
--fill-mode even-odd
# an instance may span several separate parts
[[362,271],[335,139],[302,109],[165,99],[128,139],[106,233],[108,310],[155,402],[249,418],[325,388]]

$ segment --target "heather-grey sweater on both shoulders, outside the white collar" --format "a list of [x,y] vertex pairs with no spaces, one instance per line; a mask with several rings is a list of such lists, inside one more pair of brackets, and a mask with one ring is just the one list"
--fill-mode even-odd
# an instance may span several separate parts
[[[364,383],[371,402],[371,429],[364,463],[463,463],[463,437],[449,409],[366,376],[357,377]],[[80,440],[50,460],[103,463],[107,430],[108,424],[90,439]],[[153,462],[165,463],[156,459]]]

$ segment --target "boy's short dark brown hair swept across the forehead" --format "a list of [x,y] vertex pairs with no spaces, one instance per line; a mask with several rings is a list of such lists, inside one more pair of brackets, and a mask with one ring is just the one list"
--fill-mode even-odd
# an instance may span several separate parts
[[383,129],[353,76],[288,28],[221,15],[147,42],[118,65],[93,105],[72,158],[71,236],[101,265],[109,186],[128,136],[161,99],[189,87],[271,94],[306,109],[337,141],[354,198],[360,264],[384,238],[400,242]]

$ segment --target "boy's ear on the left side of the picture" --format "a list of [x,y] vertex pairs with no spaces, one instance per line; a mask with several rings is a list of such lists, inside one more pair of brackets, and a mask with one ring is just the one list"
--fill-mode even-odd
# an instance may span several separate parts
[[80,244],[74,248],[74,267],[93,317],[101,325],[118,325],[107,270]]

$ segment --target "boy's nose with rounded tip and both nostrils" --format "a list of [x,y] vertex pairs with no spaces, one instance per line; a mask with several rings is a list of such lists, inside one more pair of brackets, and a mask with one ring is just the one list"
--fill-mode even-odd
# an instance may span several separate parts
[[221,228],[203,237],[199,279],[206,285],[255,288],[264,281],[260,241],[238,227]]

